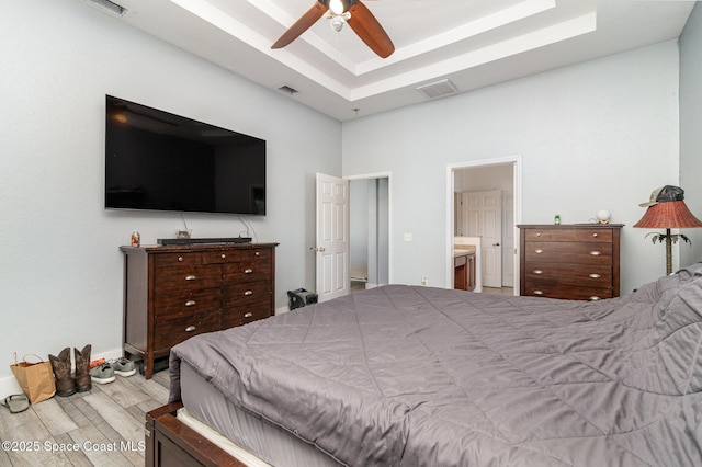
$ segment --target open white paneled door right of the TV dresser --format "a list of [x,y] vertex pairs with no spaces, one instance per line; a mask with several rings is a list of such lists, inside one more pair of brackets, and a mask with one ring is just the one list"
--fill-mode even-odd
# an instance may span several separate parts
[[317,296],[349,293],[349,181],[317,173]]

